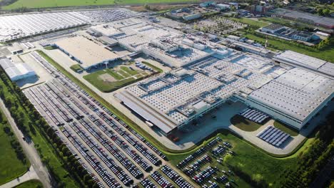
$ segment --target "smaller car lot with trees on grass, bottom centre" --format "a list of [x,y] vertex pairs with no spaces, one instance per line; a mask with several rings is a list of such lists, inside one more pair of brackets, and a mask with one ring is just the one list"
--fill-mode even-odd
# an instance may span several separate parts
[[177,164],[201,187],[239,187],[241,179],[226,167],[225,158],[238,155],[233,146],[221,137],[208,142]]

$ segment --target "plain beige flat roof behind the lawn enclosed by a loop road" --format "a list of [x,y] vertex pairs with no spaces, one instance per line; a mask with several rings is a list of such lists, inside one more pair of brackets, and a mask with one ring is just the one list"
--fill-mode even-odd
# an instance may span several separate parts
[[78,59],[83,68],[88,68],[96,65],[97,63],[119,58],[116,53],[108,51],[103,46],[98,45],[83,36],[64,38],[56,41],[55,44],[69,53],[70,56],[74,56],[74,58]]

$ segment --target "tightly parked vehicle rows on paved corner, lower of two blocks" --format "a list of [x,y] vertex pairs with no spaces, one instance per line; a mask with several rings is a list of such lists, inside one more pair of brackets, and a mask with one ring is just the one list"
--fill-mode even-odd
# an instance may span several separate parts
[[266,127],[256,136],[264,140],[265,142],[268,142],[270,145],[274,145],[275,147],[280,147],[280,145],[282,145],[283,142],[285,142],[285,140],[290,137],[288,133],[285,133],[278,128],[275,128],[272,125]]

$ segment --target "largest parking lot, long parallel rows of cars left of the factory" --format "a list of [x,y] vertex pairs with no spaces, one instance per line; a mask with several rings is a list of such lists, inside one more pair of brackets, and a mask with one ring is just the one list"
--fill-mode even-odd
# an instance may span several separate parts
[[31,57],[53,78],[24,93],[100,187],[131,187],[166,164],[156,147],[38,53]]

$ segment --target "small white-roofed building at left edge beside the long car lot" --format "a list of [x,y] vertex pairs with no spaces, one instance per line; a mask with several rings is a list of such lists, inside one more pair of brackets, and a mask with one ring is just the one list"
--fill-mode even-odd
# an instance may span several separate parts
[[13,63],[8,58],[0,59],[0,66],[12,81],[36,76],[35,71],[26,63]]

